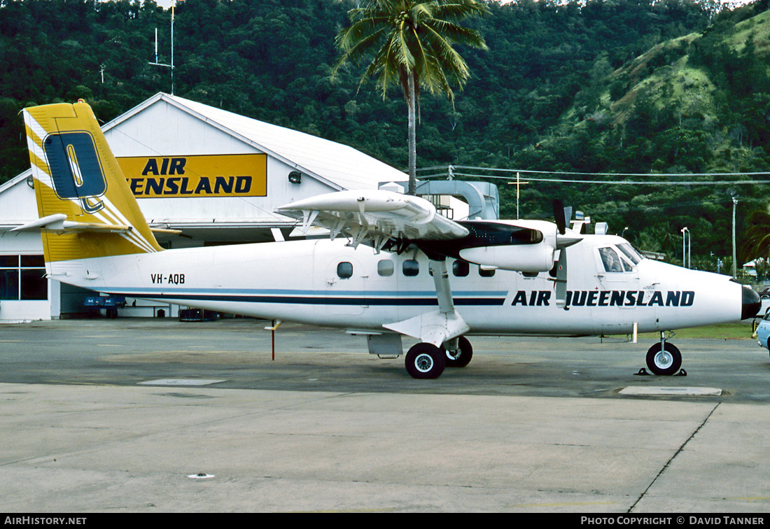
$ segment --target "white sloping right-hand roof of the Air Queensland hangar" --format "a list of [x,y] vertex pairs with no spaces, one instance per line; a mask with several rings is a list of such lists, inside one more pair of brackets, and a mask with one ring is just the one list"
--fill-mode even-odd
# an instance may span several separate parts
[[[158,97],[158,96],[156,96]],[[239,116],[176,95],[159,94],[203,116],[264,150],[286,159],[343,189],[374,189],[380,182],[403,182],[407,175],[353,147],[257,119]]]

